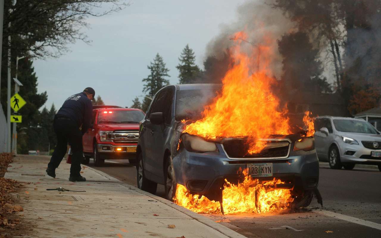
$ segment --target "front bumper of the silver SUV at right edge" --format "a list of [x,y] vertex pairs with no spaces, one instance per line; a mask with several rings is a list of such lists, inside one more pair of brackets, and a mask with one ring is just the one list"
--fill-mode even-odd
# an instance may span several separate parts
[[[340,160],[343,163],[359,163],[368,165],[381,164],[381,157],[371,157],[372,151],[381,152],[381,150],[365,148],[361,143],[359,145],[351,145],[346,143],[340,143]],[[355,152],[353,155],[348,153]]]

